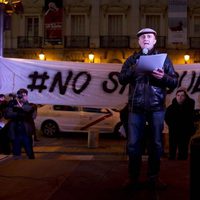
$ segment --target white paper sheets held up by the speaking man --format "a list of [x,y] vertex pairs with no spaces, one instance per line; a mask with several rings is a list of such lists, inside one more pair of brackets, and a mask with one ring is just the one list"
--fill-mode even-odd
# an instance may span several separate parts
[[166,53],[140,56],[136,70],[139,72],[152,72],[156,68],[161,69],[166,57]]

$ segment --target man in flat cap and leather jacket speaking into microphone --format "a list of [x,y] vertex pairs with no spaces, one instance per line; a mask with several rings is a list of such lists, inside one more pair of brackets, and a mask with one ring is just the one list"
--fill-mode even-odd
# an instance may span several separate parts
[[[165,115],[165,97],[167,88],[177,86],[177,75],[172,62],[166,57],[163,66],[152,72],[136,70],[141,55],[158,54],[156,31],[144,28],[137,33],[141,50],[127,58],[119,74],[122,85],[129,84],[129,118],[128,118],[128,156],[129,182],[128,187],[138,188],[142,159],[142,139],[145,125],[148,123],[148,185],[153,189],[164,189],[165,184],[159,181],[160,158],[163,153],[162,130]],[[161,67],[161,68],[160,68]]]

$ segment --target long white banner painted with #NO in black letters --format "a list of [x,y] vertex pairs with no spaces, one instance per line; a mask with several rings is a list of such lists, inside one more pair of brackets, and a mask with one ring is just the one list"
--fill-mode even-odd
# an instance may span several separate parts
[[[95,64],[63,61],[0,58],[0,93],[29,91],[29,101],[37,104],[122,107],[128,98],[128,86],[118,82],[122,64]],[[175,65],[179,86],[200,108],[200,65]],[[167,105],[175,91],[167,95]]]

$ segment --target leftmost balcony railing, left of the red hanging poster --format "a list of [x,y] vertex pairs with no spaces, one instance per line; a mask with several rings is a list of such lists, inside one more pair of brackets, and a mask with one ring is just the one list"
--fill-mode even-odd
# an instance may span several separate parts
[[42,37],[39,36],[19,36],[17,38],[18,48],[42,48]]

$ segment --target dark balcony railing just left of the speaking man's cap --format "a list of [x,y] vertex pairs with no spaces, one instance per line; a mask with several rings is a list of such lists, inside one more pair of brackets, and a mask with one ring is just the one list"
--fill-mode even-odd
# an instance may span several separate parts
[[101,48],[129,48],[129,36],[100,36]]

